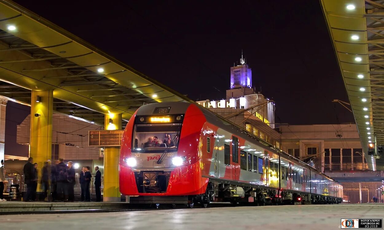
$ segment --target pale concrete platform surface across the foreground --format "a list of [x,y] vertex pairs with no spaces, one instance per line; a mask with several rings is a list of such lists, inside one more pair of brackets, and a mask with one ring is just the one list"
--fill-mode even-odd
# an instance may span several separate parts
[[1,216],[0,229],[331,230],[341,218],[383,218],[383,204],[176,208],[147,211]]

